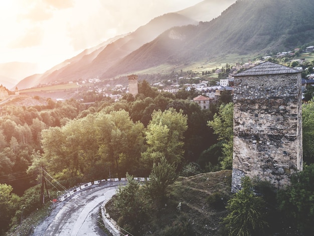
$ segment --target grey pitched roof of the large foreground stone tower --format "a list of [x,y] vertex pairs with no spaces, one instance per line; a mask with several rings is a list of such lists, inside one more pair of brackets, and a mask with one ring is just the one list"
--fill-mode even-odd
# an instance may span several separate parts
[[247,70],[244,70],[236,74],[235,76],[292,74],[299,72],[299,70],[266,61]]

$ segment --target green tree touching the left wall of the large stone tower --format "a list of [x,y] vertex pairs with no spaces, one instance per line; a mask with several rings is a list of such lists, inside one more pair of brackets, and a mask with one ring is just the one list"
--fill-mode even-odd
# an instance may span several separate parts
[[220,162],[222,169],[232,168],[233,155],[233,103],[222,104],[214,120],[208,122],[208,126],[218,135],[218,140],[223,141],[223,157]]

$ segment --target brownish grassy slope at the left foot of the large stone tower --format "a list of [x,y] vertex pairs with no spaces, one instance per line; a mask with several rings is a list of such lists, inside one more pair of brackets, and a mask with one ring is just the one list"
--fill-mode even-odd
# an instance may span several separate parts
[[[231,173],[231,170],[224,170],[179,177],[169,187],[167,206],[150,212],[142,225],[143,235],[174,235],[173,230],[181,228],[188,230],[190,235],[223,235],[220,218],[227,214],[224,206],[231,196]],[[106,209],[117,221],[119,215],[111,201]]]

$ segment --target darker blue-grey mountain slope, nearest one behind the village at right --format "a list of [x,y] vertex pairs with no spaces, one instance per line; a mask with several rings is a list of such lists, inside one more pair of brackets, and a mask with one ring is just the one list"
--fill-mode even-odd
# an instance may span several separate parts
[[112,66],[102,78],[220,54],[291,50],[313,41],[313,11],[310,0],[239,0],[211,22],[164,32]]

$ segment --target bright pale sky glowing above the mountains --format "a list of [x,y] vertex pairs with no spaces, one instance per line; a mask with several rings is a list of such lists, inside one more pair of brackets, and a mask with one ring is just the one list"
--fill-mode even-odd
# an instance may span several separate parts
[[0,63],[38,73],[151,19],[202,0],[0,0]]

